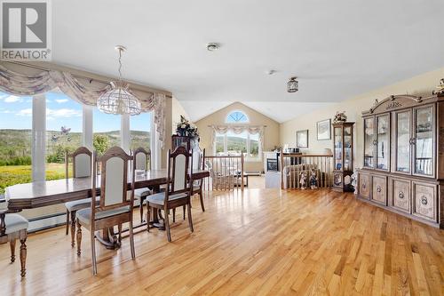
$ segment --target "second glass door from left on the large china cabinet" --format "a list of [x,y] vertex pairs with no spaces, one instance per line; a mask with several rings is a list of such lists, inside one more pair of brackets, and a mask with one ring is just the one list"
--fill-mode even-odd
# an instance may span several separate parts
[[387,171],[390,157],[390,114],[377,116],[377,169]]

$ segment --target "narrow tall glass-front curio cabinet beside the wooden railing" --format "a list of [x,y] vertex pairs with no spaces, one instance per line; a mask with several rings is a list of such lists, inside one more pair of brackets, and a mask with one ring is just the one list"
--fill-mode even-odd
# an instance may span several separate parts
[[337,123],[333,125],[333,189],[353,191],[353,124]]

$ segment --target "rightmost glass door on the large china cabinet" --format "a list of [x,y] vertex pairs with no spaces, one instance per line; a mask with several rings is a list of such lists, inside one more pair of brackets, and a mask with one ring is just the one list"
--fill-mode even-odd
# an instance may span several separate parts
[[433,116],[433,106],[414,108],[415,148],[413,166],[416,175],[434,175]]

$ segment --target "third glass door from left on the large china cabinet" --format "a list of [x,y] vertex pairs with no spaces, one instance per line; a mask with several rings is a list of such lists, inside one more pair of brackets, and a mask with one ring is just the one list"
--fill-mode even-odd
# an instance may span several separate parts
[[396,112],[394,116],[396,125],[395,172],[410,173],[411,111]]

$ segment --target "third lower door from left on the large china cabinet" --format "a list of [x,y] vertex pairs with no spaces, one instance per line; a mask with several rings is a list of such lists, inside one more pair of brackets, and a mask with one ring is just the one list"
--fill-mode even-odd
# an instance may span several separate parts
[[411,213],[410,181],[389,178],[389,206]]

